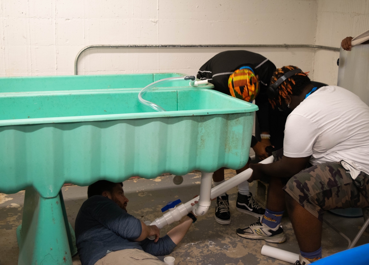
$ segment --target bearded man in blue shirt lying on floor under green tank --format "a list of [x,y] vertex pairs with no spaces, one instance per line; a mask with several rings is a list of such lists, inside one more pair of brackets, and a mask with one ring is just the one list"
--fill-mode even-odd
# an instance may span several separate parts
[[[88,199],[76,218],[76,244],[82,265],[162,265],[196,217],[189,213],[164,237],[127,213],[123,183],[99,180],[88,187]],[[155,235],[155,240],[147,239]]]

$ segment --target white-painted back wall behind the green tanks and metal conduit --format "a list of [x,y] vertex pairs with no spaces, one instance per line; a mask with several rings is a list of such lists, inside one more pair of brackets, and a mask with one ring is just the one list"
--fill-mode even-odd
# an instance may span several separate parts
[[[92,44],[314,44],[316,0],[0,0],[0,76],[72,75]],[[90,50],[80,74],[195,74],[225,49]],[[312,49],[249,49],[312,71]]]

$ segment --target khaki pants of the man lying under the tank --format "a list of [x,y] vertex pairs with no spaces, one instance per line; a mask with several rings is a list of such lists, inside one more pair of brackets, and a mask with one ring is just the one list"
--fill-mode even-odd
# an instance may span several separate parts
[[165,265],[165,263],[143,250],[132,248],[109,252],[95,265]]

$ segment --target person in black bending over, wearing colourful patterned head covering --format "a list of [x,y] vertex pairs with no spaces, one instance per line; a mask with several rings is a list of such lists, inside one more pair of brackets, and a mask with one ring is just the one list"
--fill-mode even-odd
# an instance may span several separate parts
[[[270,112],[271,107],[266,95],[266,88],[275,69],[275,65],[264,56],[241,50],[220,52],[204,63],[197,73],[197,78],[207,79],[214,85],[214,90],[249,102],[255,99],[259,107],[256,115],[262,139],[258,141],[252,136],[251,147],[260,159],[269,156],[265,147],[274,145],[276,148],[282,148],[283,145],[283,130],[287,115],[280,111]],[[236,172],[241,173],[247,168],[248,164]],[[215,186],[224,182],[224,168],[214,172],[213,181]],[[262,216],[265,212],[249,192],[247,181],[238,185],[236,209],[256,217]],[[217,197],[215,220],[220,224],[231,223],[226,193]]]

